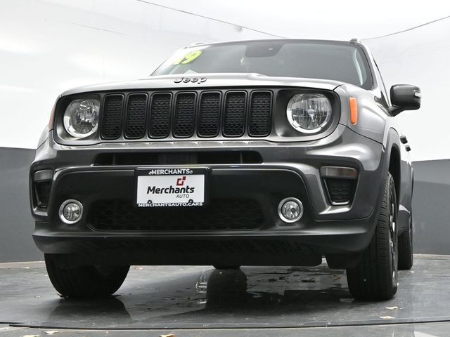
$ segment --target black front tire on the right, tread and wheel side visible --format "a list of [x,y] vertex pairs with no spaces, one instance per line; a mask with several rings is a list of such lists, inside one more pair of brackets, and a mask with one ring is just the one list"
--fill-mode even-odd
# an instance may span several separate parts
[[388,173],[378,223],[371,243],[356,267],[347,269],[347,283],[358,300],[389,300],[397,293],[398,206],[394,179]]

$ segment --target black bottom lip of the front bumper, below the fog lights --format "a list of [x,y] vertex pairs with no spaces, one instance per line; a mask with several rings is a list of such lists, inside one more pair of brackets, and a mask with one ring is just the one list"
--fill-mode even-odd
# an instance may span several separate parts
[[[367,224],[369,225],[369,224]],[[360,234],[240,234],[174,236],[46,236],[34,234],[39,249],[74,264],[113,265],[319,265],[345,268],[370,239]],[[347,247],[358,248],[349,252]]]

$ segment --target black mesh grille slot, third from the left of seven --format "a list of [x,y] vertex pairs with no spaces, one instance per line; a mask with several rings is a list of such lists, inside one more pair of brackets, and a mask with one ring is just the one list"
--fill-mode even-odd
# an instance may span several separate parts
[[169,136],[170,105],[172,95],[156,93],[150,107],[150,137],[165,138]]

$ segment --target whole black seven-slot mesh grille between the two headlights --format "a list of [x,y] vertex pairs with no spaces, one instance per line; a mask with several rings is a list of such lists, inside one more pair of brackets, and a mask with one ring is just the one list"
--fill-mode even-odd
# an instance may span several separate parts
[[110,93],[101,138],[214,138],[269,136],[271,91]]

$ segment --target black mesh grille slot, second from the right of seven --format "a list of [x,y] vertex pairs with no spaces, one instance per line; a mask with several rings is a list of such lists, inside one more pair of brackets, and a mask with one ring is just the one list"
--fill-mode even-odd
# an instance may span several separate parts
[[245,121],[245,98],[243,92],[227,93],[225,103],[224,135],[242,136]]

